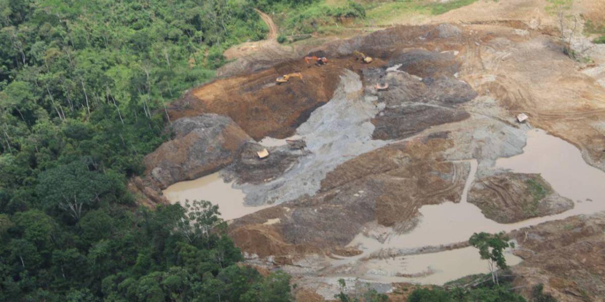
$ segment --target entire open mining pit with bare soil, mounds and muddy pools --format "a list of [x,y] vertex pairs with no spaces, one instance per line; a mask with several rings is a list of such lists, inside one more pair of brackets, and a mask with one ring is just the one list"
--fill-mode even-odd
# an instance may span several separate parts
[[[397,26],[309,52],[327,65],[284,56],[225,71],[170,106],[172,139],[131,188],[146,204],[220,205],[246,263],[283,269],[326,299],[339,278],[390,293],[488,272],[467,240],[506,231],[515,282],[599,301],[605,88],[547,32]],[[276,85],[290,72],[303,77]]]

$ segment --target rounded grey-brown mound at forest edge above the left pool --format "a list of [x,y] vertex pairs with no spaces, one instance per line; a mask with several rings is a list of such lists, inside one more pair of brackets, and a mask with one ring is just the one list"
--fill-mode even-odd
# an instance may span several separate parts
[[169,126],[172,140],[145,156],[154,187],[199,178],[230,164],[250,137],[231,118],[217,114],[180,118]]

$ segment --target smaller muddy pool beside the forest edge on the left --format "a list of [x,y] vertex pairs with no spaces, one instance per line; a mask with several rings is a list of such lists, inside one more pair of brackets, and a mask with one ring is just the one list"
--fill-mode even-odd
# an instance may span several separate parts
[[217,173],[206,175],[193,181],[181,181],[171,185],[163,191],[164,196],[172,204],[185,200],[204,200],[218,205],[218,211],[224,220],[232,220],[245,216],[269,205],[248,207],[244,205],[244,194],[241,190],[232,187],[232,183],[223,181]]

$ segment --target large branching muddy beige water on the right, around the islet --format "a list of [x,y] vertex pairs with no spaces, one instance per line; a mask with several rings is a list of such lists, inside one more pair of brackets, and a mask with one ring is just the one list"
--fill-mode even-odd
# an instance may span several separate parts
[[[468,274],[488,272],[487,265],[479,258],[477,249],[468,247],[388,259],[367,258],[370,254],[384,249],[414,251],[423,246],[465,241],[475,232],[512,231],[549,220],[605,210],[604,172],[586,164],[580,150],[560,138],[537,129],[530,130],[527,134],[527,145],[523,153],[498,159],[496,167],[517,173],[540,173],[555,191],[576,201],[574,209],[509,224],[487,219],[479,208],[466,202],[468,189],[473,184],[477,172],[477,162],[472,160],[469,161],[471,172],[458,204],[445,202],[423,206],[420,208],[420,222],[414,230],[406,234],[397,234],[390,228],[375,226],[374,230],[369,231],[374,236],[367,236],[366,230],[365,234],[359,234],[349,244],[364,252],[355,257],[331,260],[332,271],[335,274],[346,271],[347,275],[384,283],[407,281],[443,284]],[[510,251],[507,251],[506,259],[509,265],[521,261]],[[402,275],[405,277],[401,277]]]

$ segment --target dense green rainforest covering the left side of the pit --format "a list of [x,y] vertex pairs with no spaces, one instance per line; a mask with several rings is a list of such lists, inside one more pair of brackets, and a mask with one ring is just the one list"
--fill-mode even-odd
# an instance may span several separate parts
[[126,190],[164,104],[262,39],[273,2],[0,0],[0,301],[289,299],[287,275],[235,265],[216,208],[185,230]]

